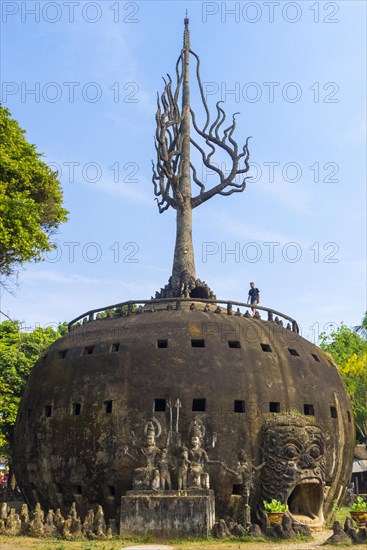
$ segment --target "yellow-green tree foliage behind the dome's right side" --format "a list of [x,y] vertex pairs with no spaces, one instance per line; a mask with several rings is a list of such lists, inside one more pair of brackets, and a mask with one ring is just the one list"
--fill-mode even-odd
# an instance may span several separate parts
[[[362,327],[366,322],[366,315]],[[367,439],[367,340],[361,331],[341,324],[330,336],[320,335],[320,347],[338,366],[352,401],[357,436]]]

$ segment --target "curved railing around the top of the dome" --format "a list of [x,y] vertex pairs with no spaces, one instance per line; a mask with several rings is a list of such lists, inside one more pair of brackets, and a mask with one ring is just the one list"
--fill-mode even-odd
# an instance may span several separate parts
[[[250,314],[253,306],[244,302],[237,302],[233,300],[217,300],[217,299],[204,299],[204,298],[154,298],[151,300],[127,300],[126,302],[120,302],[112,306],[101,307],[98,309],[91,309],[83,315],[79,315],[72,321],[70,321],[68,327],[69,331],[75,329],[76,327],[85,325],[91,321],[97,319],[108,319],[113,317],[126,317],[129,315],[137,315],[140,313],[154,313],[156,311],[162,310],[180,310],[182,308],[182,303],[190,302],[190,310],[197,310],[197,303],[202,303],[204,305],[203,311],[209,313],[217,313],[224,315],[234,315],[237,317],[248,317],[254,320],[266,320],[277,323],[278,325],[285,326],[286,329],[293,332],[299,333],[299,327],[297,321],[276,311],[275,309],[270,309],[268,307],[256,306],[256,313],[254,316]],[[210,309],[210,304],[216,306],[215,309]],[[224,308],[220,307],[220,304],[226,306],[226,311],[223,311]],[[156,306],[166,307],[156,307]],[[234,311],[236,308],[236,311]],[[243,313],[243,309],[246,311]],[[259,313],[264,311],[267,313],[267,319],[262,319]],[[286,324],[285,324],[286,323]]]

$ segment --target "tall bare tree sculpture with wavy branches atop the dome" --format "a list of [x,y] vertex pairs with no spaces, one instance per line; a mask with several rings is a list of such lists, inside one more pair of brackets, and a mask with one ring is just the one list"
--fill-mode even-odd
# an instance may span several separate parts
[[[157,298],[170,297],[213,297],[210,289],[196,279],[194,248],[192,244],[192,209],[214,195],[231,195],[240,193],[246,187],[244,177],[241,183],[236,183],[238,174],[246,174],[249,166],[249,149],[247,138],[245,145],[239,152],[237,143],[232,139],[236,128],[235,113],[232,124],[221,130],[226,115],[218,101],[217,116],[210,125],[209,109],[204,97],[203,86],[200,78],[199,57],[190,49],[189,20],[185,18],[184,43],[181,54],[176,63],[177,84],[172,90],[172,79],[168,75],[165,79],[165,87],[162,95],[157,99],[155,148],[157,151],[156,165],[153,165],[154,194],[157,197],[159,212],[162,213],[170,206],[177,211],[176,216],[176,245],[173,260],[172,276],[168,284],[160,292]],[[205,126],[201,130],[197,123],[194,111],[190,106],[189,61],[190,53],[196,59],[196,78],[200,89],[201,99],[206,112]],[[182,96],[181,109],[179,98]],[[190,135],[190,126],[205,141],[210,151],[204,149]],[[219,177],[219,183],[206,190],[205,185],[199,180],[197,170],[190,160],[191,145],[201,154],[202,162],[206,168],[213,170]],[[218,147],[225,151],[231,161],[231,169],[227,176],[212,162],[212,157]],[[240,166],[241,159],[244,165]],[[191,175],[195,184],[200,188],[199,194],[192,196]]]

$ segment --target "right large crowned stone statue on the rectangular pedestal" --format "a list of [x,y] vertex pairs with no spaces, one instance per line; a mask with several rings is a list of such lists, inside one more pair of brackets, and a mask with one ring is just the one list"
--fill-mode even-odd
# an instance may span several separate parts
[[207,464],[220,464],[220,460],[210,460],[207,452],[201,447],[203,437],[202,425],[195,420],[191,429],[191,449],[189,459],[189,489],[209,489],[209,474],[205,472]]

